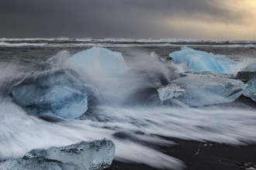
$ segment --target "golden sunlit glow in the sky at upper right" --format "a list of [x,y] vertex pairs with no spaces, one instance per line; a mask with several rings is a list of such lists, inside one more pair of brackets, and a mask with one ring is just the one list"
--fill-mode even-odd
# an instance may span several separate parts
[[244,0],[239,3],[234,3],[234,0],[217,1],[214,5],[223,9],[227,17],[198,14],[180,16],[177,13],[164,19],[164,27],[166,30],[176,31],[177,37],[189,39],[256,39],[255,0]]

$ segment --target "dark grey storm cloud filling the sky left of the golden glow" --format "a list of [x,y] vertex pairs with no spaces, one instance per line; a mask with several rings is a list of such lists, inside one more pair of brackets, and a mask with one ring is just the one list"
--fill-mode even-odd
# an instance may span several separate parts
[[0,0],[0,37],[163,37],[174,16],[243,22],[219,0]]

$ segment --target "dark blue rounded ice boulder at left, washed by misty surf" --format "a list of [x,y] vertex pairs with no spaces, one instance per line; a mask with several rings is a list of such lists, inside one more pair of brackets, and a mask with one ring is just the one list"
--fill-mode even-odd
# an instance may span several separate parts
[[71,70],[51,70],[28,76],[12,87],[16,104],[29,114],[74,119],[85,114],[94,89]]

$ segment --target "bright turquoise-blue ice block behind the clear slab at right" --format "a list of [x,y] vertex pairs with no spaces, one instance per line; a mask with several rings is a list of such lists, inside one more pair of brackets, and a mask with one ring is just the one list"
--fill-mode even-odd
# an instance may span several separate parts
[[209,71],[213,73],[237,73],[237,62],[227,56],[214,55],[203,51],[182,47],[182,50],[170,53],[175,63],[185,63],[187,71]]

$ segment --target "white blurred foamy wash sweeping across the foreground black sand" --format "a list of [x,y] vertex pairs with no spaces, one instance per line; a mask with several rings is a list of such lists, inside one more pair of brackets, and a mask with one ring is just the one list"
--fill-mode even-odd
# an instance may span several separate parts
[[[1,158],[20,157],[33,148],[108,138],[116,144],[117,160],[145,163],[157,168],[178,168],[182,164],[176,158],[147,147],[147,143],[170,145],[171,142],[150,134],[234,145],[256,141],[254,110],[102,106],[99,107],[101,116],[110,121],[54,124],[28,116],[10,100],[2,101],[0,107]],[[114,138],[116,132],[127,134],[127,138]]]

